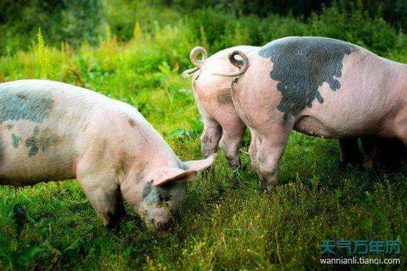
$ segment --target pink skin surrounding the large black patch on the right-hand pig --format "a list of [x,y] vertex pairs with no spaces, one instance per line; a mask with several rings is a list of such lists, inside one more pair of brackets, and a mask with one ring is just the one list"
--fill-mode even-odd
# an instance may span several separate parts
[[278,163],[293,128],[342,142],[374,135],[407,143],[407,65],[358,47],[343,58],[340,90],[323,83],[318,89],[323,103],[314,100],[311,108],[283,121],[278,82],[270,78],[273,63],[257,52],[248,59],[247,71],[233,81],[233,103],[251,131],[252,163],[268,190],[278,182]]

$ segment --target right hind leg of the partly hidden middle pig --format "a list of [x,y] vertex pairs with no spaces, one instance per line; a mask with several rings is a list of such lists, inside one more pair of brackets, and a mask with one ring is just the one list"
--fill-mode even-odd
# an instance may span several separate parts
[[236,170],[240,165],[240,158],[238,150],[243,141],[246,126],[239,126],[236,128],[223,128],[223,135],[221,138],[221,148],[228,160],[231,170]]

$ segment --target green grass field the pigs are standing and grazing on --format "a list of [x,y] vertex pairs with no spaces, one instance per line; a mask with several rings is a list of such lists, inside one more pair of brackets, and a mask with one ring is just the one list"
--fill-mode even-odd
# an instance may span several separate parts
[[[168,27],[154,36],[135,31],[129,43],[111,37],[99,46],[57,49],[40,42],[1,57],[0,80],[49,78],[125,101],[182,159],[199,158],[202,124],[191,82],[179,75],[195,44],[180,34],[184,29]],[[393,58],[406,61],[407,55]],[[319,264],[322,240],[398,240],[401,265],[355,268],[406,268],[406,164],[338,171],[335,141],[293,132],[281,184],[263,195],[248,144],[246,136],[238,185],[231,185],[236,176],[219,153],[214,174],[190,183],[176,229],[166,236],[140,220],[123,221],[121,230],[109,232],[74,180],[1,187],[0,270],[340,270]]]

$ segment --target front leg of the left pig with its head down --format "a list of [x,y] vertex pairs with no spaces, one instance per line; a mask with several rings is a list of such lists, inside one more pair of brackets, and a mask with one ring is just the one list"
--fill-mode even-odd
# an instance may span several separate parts
[[104,172],[78,178],[86,198],[88,198],[96,213],[104,219],[104,225],[108,228],[115,227],[120,216],[124,213],[121,193],[116,179],[117,177],[114,175],[110,175],[109,178],[109,174]]

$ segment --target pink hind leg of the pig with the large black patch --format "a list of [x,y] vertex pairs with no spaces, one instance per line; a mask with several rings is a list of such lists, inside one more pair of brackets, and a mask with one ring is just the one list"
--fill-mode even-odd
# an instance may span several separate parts
[[266,180],[266,183],[263,183],[261,188],[265,187],[268,193],[278,183],[278,164],[286,149],[291,128],[292,126],[273,123],[268,129],[268,133],[263,133],[261,142],[258,145],[258,167],[261,175]]

